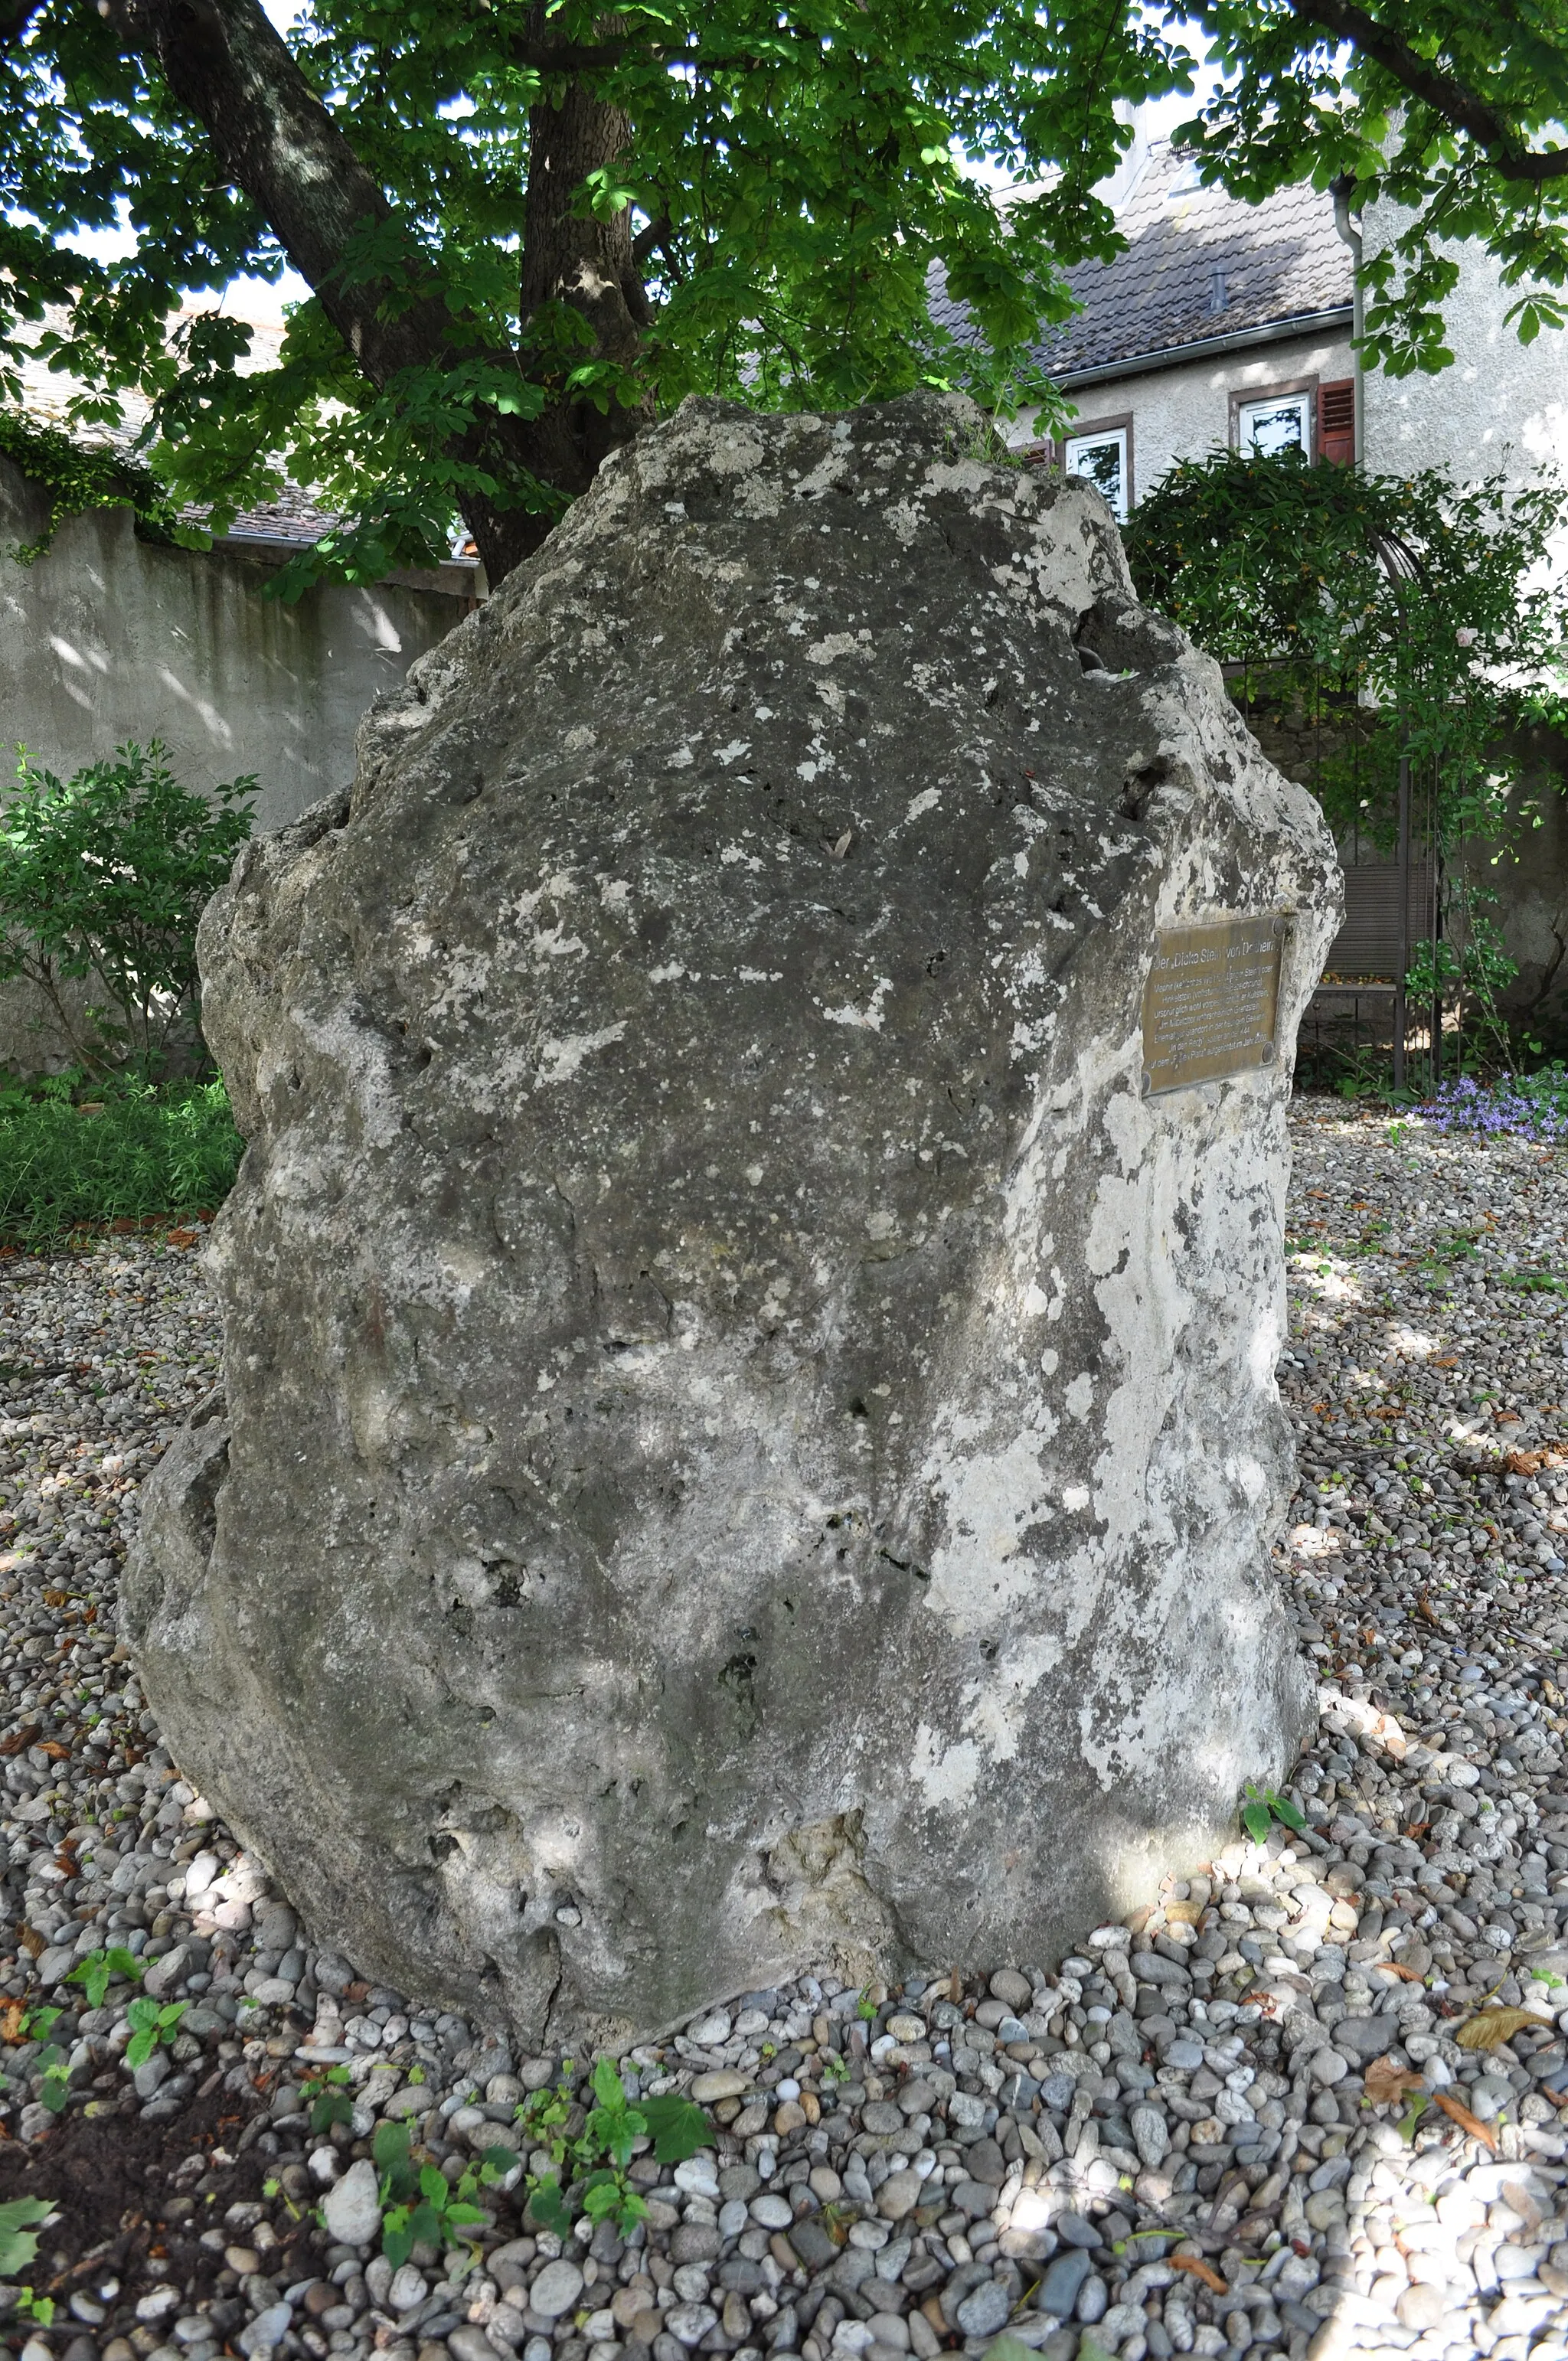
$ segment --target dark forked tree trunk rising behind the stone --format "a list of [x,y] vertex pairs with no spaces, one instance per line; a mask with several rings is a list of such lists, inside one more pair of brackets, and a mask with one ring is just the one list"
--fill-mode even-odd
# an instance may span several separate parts
[[[548,38],[543,7],[536,14]],[[484,352],[444,302],[401,309],[385,302],[394,293],[385,276],[342,276],[349,238],[390,222],[392,205],[260,0],[111,0],[111,21],[128,47],[158,59],[175,99],[203,123],[220,170],[262,212],[371,385],[385,387],[401,368],[446,368]],[[569,80],[562,104],[534,109],[531,130],[522,316],[548,300],[567,302],[593,331],[593,345],[574,359],[631,361],[647,319],[631,215],[607,224],[571,217],[583,172],[626,144],[626,118]],[[503,359],[517,366],[515,354]],[[605,451],[640,423],[642,411],[612,406],[605,416],[588,401],[557,399],[534,420],[482,416],[453,453],[503,484],[534,475],[555,491],[579,493]],[[538,548],[553,522],[472,491],[460,508],[491,586]]]

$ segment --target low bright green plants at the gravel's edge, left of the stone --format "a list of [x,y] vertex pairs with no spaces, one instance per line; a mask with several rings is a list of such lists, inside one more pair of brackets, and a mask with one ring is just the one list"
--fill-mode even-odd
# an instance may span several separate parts
[[52,1247],[73,1230],[217,1206],[243,1140],[222,1081],[80,1074],[0,1091],[0,1240]]

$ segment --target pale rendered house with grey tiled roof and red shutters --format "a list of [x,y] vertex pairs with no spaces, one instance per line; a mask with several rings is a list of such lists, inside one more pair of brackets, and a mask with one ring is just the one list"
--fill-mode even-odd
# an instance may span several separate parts
[[[1353,460],[1372,472],[1445,467],[1457,482],[1537,467],[1568,470],[1568,333],[1521,345],[1507,314],[1518,290],[1495,262],[1457,248],[1459,283],[1445,305],[1455,364],[1438,375],[1360,371],[1353,349],[1355,257],[1393,243],[1398,212],[1372,205],[1360,224],[1334,217],[1329,191],[1289,187],[1259,205],[1204,189],[1190,156],[1138,132],[1105,191],[1126,238],[1112,262],[1079,262],[1067,283],[1079,312],[1037,347],[1077,416],[1051,446],[1034,416],[1008,430],[1015,446],[1046,451],[1100,486],[1112,512],[1131,510],[1183,458],[1216,446],[1313,460]],[[956,333],[963,314],[937,290],[933,309]],[[1568,562],[1568,550],[1563,552]],[[1492,862],[1497,918],[1518,961],[1509,1001],[1559,1034],[1568,1027],[1568,748],[1535,732],[1523,746],[1521,796],[1540,805],[1528,857]],[[1289,748],[1270,744],[1289,765]],[[1542,793],[1544,789],[1544,793]],[[1556,789],[1556,791],[1554,791]],[[1391,977],[1398,885],[1381,855],[1348,857],[1346,928],[1329,975]],[[1431,928],[1436,871],[1417,862],[1410,940]],[[1556,1001],[1563,1001],[1561,1011]]]

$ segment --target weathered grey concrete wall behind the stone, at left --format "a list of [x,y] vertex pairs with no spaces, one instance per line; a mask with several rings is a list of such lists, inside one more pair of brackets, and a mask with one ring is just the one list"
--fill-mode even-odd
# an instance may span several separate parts
[[260,593],[279,557],[137,541],[128,508],[71,517],[31,567],[47,496],[0,458],[0,786],[14,746],[68,777],[125,739],[163,739],[189,786],[260,781],[279,829],[354,774],[359,715],[470,604],[451,586],[321,588],[295,607]]

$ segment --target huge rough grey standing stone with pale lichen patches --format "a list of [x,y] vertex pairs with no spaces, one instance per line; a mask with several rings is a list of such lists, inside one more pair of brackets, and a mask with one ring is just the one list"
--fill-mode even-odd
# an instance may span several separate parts
[[[963,404],[690,401],[203,928],[227,1407],[149,1487],[175,1752],[316,1931],[529,2040],[1046,1957],[1304,1676],[1285,1096],[1311,798]],[[1282,1060],[1141,1096],[1157,926]]]

